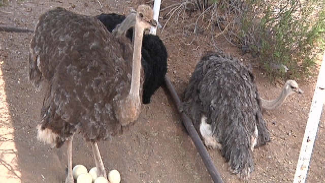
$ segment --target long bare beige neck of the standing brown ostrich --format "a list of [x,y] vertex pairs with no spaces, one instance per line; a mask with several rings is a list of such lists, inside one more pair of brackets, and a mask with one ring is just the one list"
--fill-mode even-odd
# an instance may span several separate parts
[[140,76],[141,76],[141,45],[144,29],[138,24],[135,28],[135,43],[133,51],[133,63],[132,63],[132,81],[129,95],[139,96],[140,90]]

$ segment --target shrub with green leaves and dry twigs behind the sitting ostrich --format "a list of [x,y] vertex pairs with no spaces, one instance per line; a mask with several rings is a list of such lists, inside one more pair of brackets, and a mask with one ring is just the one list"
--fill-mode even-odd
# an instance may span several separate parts
[[214,8],[207,9],[215,15],[210,20],[215,21],[223,36],[242,49],[248,48],[270,77],[306,77],[314,68],[316,54],[323,51],[325,0],[209,3]]

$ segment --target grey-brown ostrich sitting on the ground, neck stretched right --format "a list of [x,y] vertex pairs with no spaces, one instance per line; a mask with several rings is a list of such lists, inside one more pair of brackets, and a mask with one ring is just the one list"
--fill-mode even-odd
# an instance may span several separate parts
[[[286,82],[284,90],[264,107],[278,107],[285,95],[300,91],[294,81]],[[209,52],[196,66],[183,96],[184,111],[205,145],[218,147],[231,171],[249,178],[254,147],[271,140],[253,74],[238,59]]]

